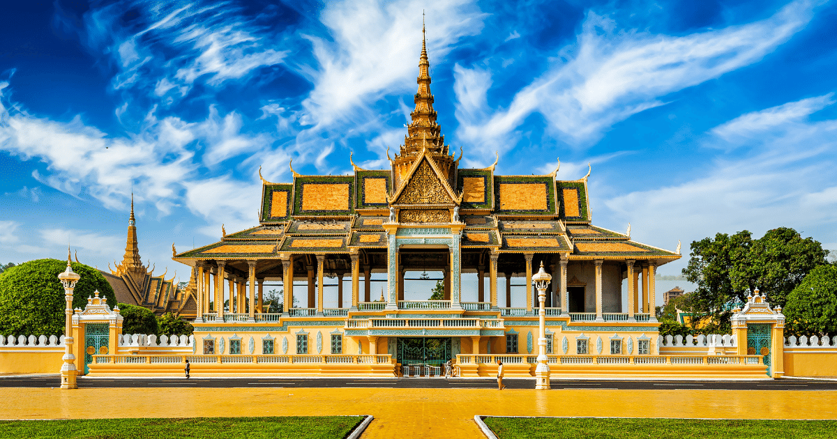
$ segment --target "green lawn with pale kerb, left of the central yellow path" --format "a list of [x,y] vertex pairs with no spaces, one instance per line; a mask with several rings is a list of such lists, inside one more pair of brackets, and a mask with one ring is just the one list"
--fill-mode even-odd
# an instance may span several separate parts
[[0,438],[138,439],[301,438],[348,436],[362,416],[198,417],[0,421]]

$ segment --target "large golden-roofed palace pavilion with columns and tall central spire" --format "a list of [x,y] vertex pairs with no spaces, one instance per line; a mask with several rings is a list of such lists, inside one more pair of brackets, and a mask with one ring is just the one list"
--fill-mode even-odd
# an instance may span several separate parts
[[[460,354],[531,354],[538,337],[531,276],[541,264],[553,280],[546,303],[549,353],[658,349],[655,270],[680,258],[679,248],[670,252],[593,226],[589,173],[560,181],[557,169],[496,175],[496,161],[460,168],[462,151],[456,158],[444,143],[430,83],[423,42],[412,123],[398,153],[388,154],[388,169],[366,170],[352,161],[352,175],[303,176],[291,166],[293,181],[262,179],[257,226],[174,251],[173,259],[197,278],[196,351],[389,354],[399,365],[438,365]],[[417,279],[428,272],[439,273],[444,298],[412,300],[414,286],[426,285]],[[477,281],[464,284],[464,273]],[[337,307],[326,308],[326,282],[333,278]],[[519,303],[512,301],[513,278],[526,279]],[[300,288],[307,294],[298,305],[284,294],[282,312],[267,313],[265,283],[281,283],[285,292],[296,285],[297,296]],[[498,298],[503,283],[505,297]],[[429,296],[430,288],[422,288]],[[220,304],[228,299],[225,310]]]

